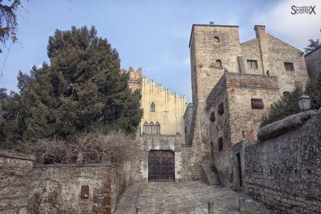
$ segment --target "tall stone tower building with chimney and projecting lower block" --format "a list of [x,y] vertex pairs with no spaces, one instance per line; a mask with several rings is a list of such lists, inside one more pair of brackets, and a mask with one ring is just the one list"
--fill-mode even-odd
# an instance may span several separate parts
[[308,80],[301,50],[266,34],[265,26],[254,30],[256,37],[244,43],[238,26],[193,24],[190,36],[193,110],[185,124],[187,144],[198,162],[214,162],[229,187],[241,185],[231,147],[255,140],[271,103]]

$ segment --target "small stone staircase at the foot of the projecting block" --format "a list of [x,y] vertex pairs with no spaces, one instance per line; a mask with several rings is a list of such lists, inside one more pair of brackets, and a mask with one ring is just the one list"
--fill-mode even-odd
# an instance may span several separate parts
[[213,163],[203,163],[201,164],[202,176],[201,180],[203,180],[208,185],[217,185],[221,186],[222,183],[220,181],[220,177],[218,176],[217,170]]

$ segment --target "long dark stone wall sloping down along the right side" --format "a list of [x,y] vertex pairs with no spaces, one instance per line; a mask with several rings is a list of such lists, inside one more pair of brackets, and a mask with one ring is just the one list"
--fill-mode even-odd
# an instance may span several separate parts
[[290,122],[292,129],[283,134],[270,134],[274,137],[248,143],[245,148],[247,194],[279,213],[320,213],[320,123],[321,115],[311,115],[297,127]]

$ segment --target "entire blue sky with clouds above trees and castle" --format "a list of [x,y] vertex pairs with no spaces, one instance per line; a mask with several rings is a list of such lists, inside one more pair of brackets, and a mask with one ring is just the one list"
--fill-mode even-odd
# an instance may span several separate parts
[[[6,2],[3,0],[3,2]],[[192,24],[236,24],[240,40],[255,38],[255,24],[303,50],[308,38],[320,38],[320,0],[22,0],[17,15],[19,43],[2,48],[0,87],[17,91],[17,73],[49,62],[48,37],[55,29],[94,25],[120,54],[121,66],[143,68],[143,75],[191,101],[190,50]],[[315,6],[316,14],[292,15],[292,6]]]

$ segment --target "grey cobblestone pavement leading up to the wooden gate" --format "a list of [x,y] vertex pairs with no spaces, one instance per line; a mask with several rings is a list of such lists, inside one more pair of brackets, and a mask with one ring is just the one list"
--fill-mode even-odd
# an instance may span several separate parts
[[[200,181],[187,183],[135,183],[126,190],[116,213],[208,213],[213,201],[215,213],[240,213],[241,194],[225,187],[208,186]],[[272,213],[246,197],[246,213]]]

